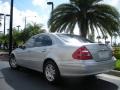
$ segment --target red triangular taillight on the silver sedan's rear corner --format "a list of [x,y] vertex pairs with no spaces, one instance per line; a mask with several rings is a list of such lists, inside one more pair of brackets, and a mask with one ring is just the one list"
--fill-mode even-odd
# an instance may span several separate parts
[[82,46],[81,48],[77,49],[73,53],[72,57],[74,59],[78,59],[78,60],[89,60],[89,59],[92,59],[91,53],[89,52],[89,50],[85,46]]

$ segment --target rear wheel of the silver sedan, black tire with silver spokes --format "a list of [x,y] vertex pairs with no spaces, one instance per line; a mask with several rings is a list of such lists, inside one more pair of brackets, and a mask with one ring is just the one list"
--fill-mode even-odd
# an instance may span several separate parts
[[53,61],[45,63],[43,73],[46,80],[51,84],[58,83],[61,79],[59,69]]

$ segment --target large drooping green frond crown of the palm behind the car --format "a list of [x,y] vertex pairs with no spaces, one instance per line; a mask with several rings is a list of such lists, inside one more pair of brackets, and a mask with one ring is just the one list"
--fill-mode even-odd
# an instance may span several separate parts
[[119,30],[119,13],[102,0],[70,0],[70,3],[57,6],[51,13],[48,27],[51,32],[73,33],[76,25],[82,37],[95,30],[103,35],[112,35]]

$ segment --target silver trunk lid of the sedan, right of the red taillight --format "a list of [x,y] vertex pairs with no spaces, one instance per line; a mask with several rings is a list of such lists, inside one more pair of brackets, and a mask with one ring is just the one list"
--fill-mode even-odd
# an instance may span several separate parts
[[85,45],[97,62],[111,60],[112,50],[106,44],[91,43]]

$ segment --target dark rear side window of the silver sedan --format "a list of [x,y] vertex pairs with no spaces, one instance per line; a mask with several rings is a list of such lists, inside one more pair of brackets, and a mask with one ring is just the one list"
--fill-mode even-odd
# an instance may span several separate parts
[[47,35],[39,36],[35,39],[35,47],[41,47],[41,46],[50,46],[52,45],[52,40]]

